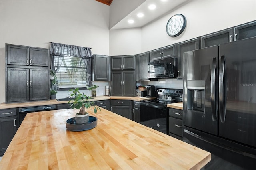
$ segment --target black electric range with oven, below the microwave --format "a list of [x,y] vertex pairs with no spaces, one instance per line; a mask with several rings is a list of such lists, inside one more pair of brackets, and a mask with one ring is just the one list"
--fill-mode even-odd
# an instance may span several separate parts
[[167,104],[182,101],[182,89],[157,89],[156,99],[140,101],[140,123],[168,134]]

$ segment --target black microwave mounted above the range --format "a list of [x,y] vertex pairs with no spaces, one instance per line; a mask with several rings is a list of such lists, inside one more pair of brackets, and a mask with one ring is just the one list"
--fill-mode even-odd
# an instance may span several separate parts
[[174,77],[178,77],[176,57],[148,63],[148,78]]

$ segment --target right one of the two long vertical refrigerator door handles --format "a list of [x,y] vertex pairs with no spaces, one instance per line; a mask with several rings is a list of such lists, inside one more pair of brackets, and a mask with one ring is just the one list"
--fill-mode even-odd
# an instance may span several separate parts
[[220,58],[220,77],[219,77],[219,105],[220,105],[220,121],[225,122],[226,117],[226,98],[227,87],[226,87],[226,62],[225,56]]

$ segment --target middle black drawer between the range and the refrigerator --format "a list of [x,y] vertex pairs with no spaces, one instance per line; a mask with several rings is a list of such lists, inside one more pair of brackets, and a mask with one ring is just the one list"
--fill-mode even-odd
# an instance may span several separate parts
[[182,136],[182,120],[169,117],[169,132]]

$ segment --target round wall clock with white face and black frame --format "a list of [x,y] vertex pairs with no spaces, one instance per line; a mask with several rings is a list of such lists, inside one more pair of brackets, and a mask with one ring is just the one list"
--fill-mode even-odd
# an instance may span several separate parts
[[182,14],[176,14],[170,18],[166,25],[166,32],[169,36],[180,35],[186,27],[186,18]]

